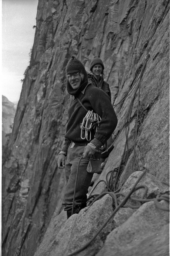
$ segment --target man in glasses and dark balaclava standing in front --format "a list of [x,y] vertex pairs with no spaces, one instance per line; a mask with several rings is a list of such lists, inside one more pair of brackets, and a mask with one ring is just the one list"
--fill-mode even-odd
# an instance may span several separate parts
[[[66,188],[63,207],[69,218],[72,215],[78,162],[83,156],[79,166],[73,213],[78,213],[86,207],[86,194],[93,176],[92,173],[86,171],[89,158],[99,154],[101,146],[115,130],[117,117],[107,94],[88,82],[83,64],[74,56],[70,58],[66,66],[66,76],[67,91],[74,96],[74,99],[68,110],[69,120],[64,145],[58,157],[58,167],[65,168]],[[95,130],[91,133],[90,139],[81,136],[81,123],[87,113],[84,107],[88,111],[93,110],[101,117],[100,126],[96,133]]]

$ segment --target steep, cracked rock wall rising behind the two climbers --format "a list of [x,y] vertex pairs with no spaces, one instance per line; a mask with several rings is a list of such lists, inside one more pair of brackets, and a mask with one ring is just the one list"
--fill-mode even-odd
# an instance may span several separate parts
[[[126,140],[125,117],[145,56],[150,52],[141,79],[135,155],[140,169],[147,169],[160,182],[167,181],[168,13],[167,0],[39,1],[30,65],[3,157],[4,256],[33,256],[50,220],[62,211],[65,177],[57,167],[57,159],[68,120],[70,97],[65,67],[71,55],[76,55],[86,70],[93,56],[103,60],[118,116],[113,134],[115,148],[100,180],[120,164]],[[137,104],[138,91],[130,116],[128,160],[119,185],[137,170],[133,157]],[[104,189],[100,184],[95,192]]]

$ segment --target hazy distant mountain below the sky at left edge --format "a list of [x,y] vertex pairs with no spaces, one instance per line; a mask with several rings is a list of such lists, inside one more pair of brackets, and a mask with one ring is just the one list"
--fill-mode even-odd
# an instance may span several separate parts
[[16,112],[15,106],[17,106],[17,104],[15,105],[2,95],[2,145],[5,145],[6,143],[6,134],[12,132],[12,125]]

